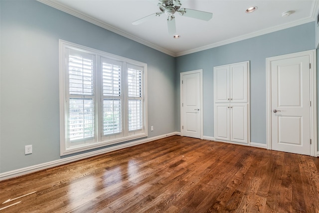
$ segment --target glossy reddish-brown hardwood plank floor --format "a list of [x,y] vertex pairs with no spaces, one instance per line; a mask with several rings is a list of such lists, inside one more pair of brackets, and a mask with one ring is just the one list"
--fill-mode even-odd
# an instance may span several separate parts
[[0,204],[1,213],[318,213],[319,158],[172,136],[2,181]]

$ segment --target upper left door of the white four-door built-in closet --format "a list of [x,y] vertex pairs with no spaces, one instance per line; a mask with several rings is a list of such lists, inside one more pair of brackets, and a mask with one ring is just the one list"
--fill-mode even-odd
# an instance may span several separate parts
[[214,101],[215,103],[229,102],[229,66],[214,68]]

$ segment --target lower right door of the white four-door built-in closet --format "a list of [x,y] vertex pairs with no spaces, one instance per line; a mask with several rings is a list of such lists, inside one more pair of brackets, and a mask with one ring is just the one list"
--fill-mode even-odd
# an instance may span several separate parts
[[231,141],[248,144],[248,104],[230,105]]

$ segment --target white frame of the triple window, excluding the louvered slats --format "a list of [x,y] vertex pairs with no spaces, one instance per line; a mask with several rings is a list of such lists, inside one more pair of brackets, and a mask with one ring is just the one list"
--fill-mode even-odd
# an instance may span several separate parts
[[[76,140],[76,143],[71,142],[68,138],[68,117],[69,117],[69,68],[68,58],[69,50],[81,52],[94,56],[93,78],[94,78],[94,137],[89,140]],[[103,102],[105,99],[110,99],[111,96],[103,94],[103,61],[116,61],[121,64],[121,95],[113,96],[113,99],[121,100],[121,119],[122,132],[110,135],[104,135],[103,130]],[[142,69],[142,96],[129,97],[128,95],[128,69],[129,67],[137,67]],[[122,56],[107,53],[94,48],[75,44],[72,42],[59,39],[59,100],[60,100],[60,156],[73,153],[83,152],[86,150],[96,149],[108,145],[114,145],[126,141],[131,141],[139,138],[148,137],[148,108],[147,108],[147,64],[125,58]],[[73,96],[72,96],[73,97]],[[86,96],[83,95],[82,99]],[[128,103],[129,100],[142,101],[142,129],[129,131],[128,122]],[[74,145],[72,145],[72,143]]]

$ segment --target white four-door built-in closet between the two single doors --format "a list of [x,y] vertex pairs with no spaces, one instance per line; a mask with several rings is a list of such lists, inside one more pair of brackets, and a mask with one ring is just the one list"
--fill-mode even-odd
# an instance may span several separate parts
[[214,67],[214,137],[249,142],[249,61]]

